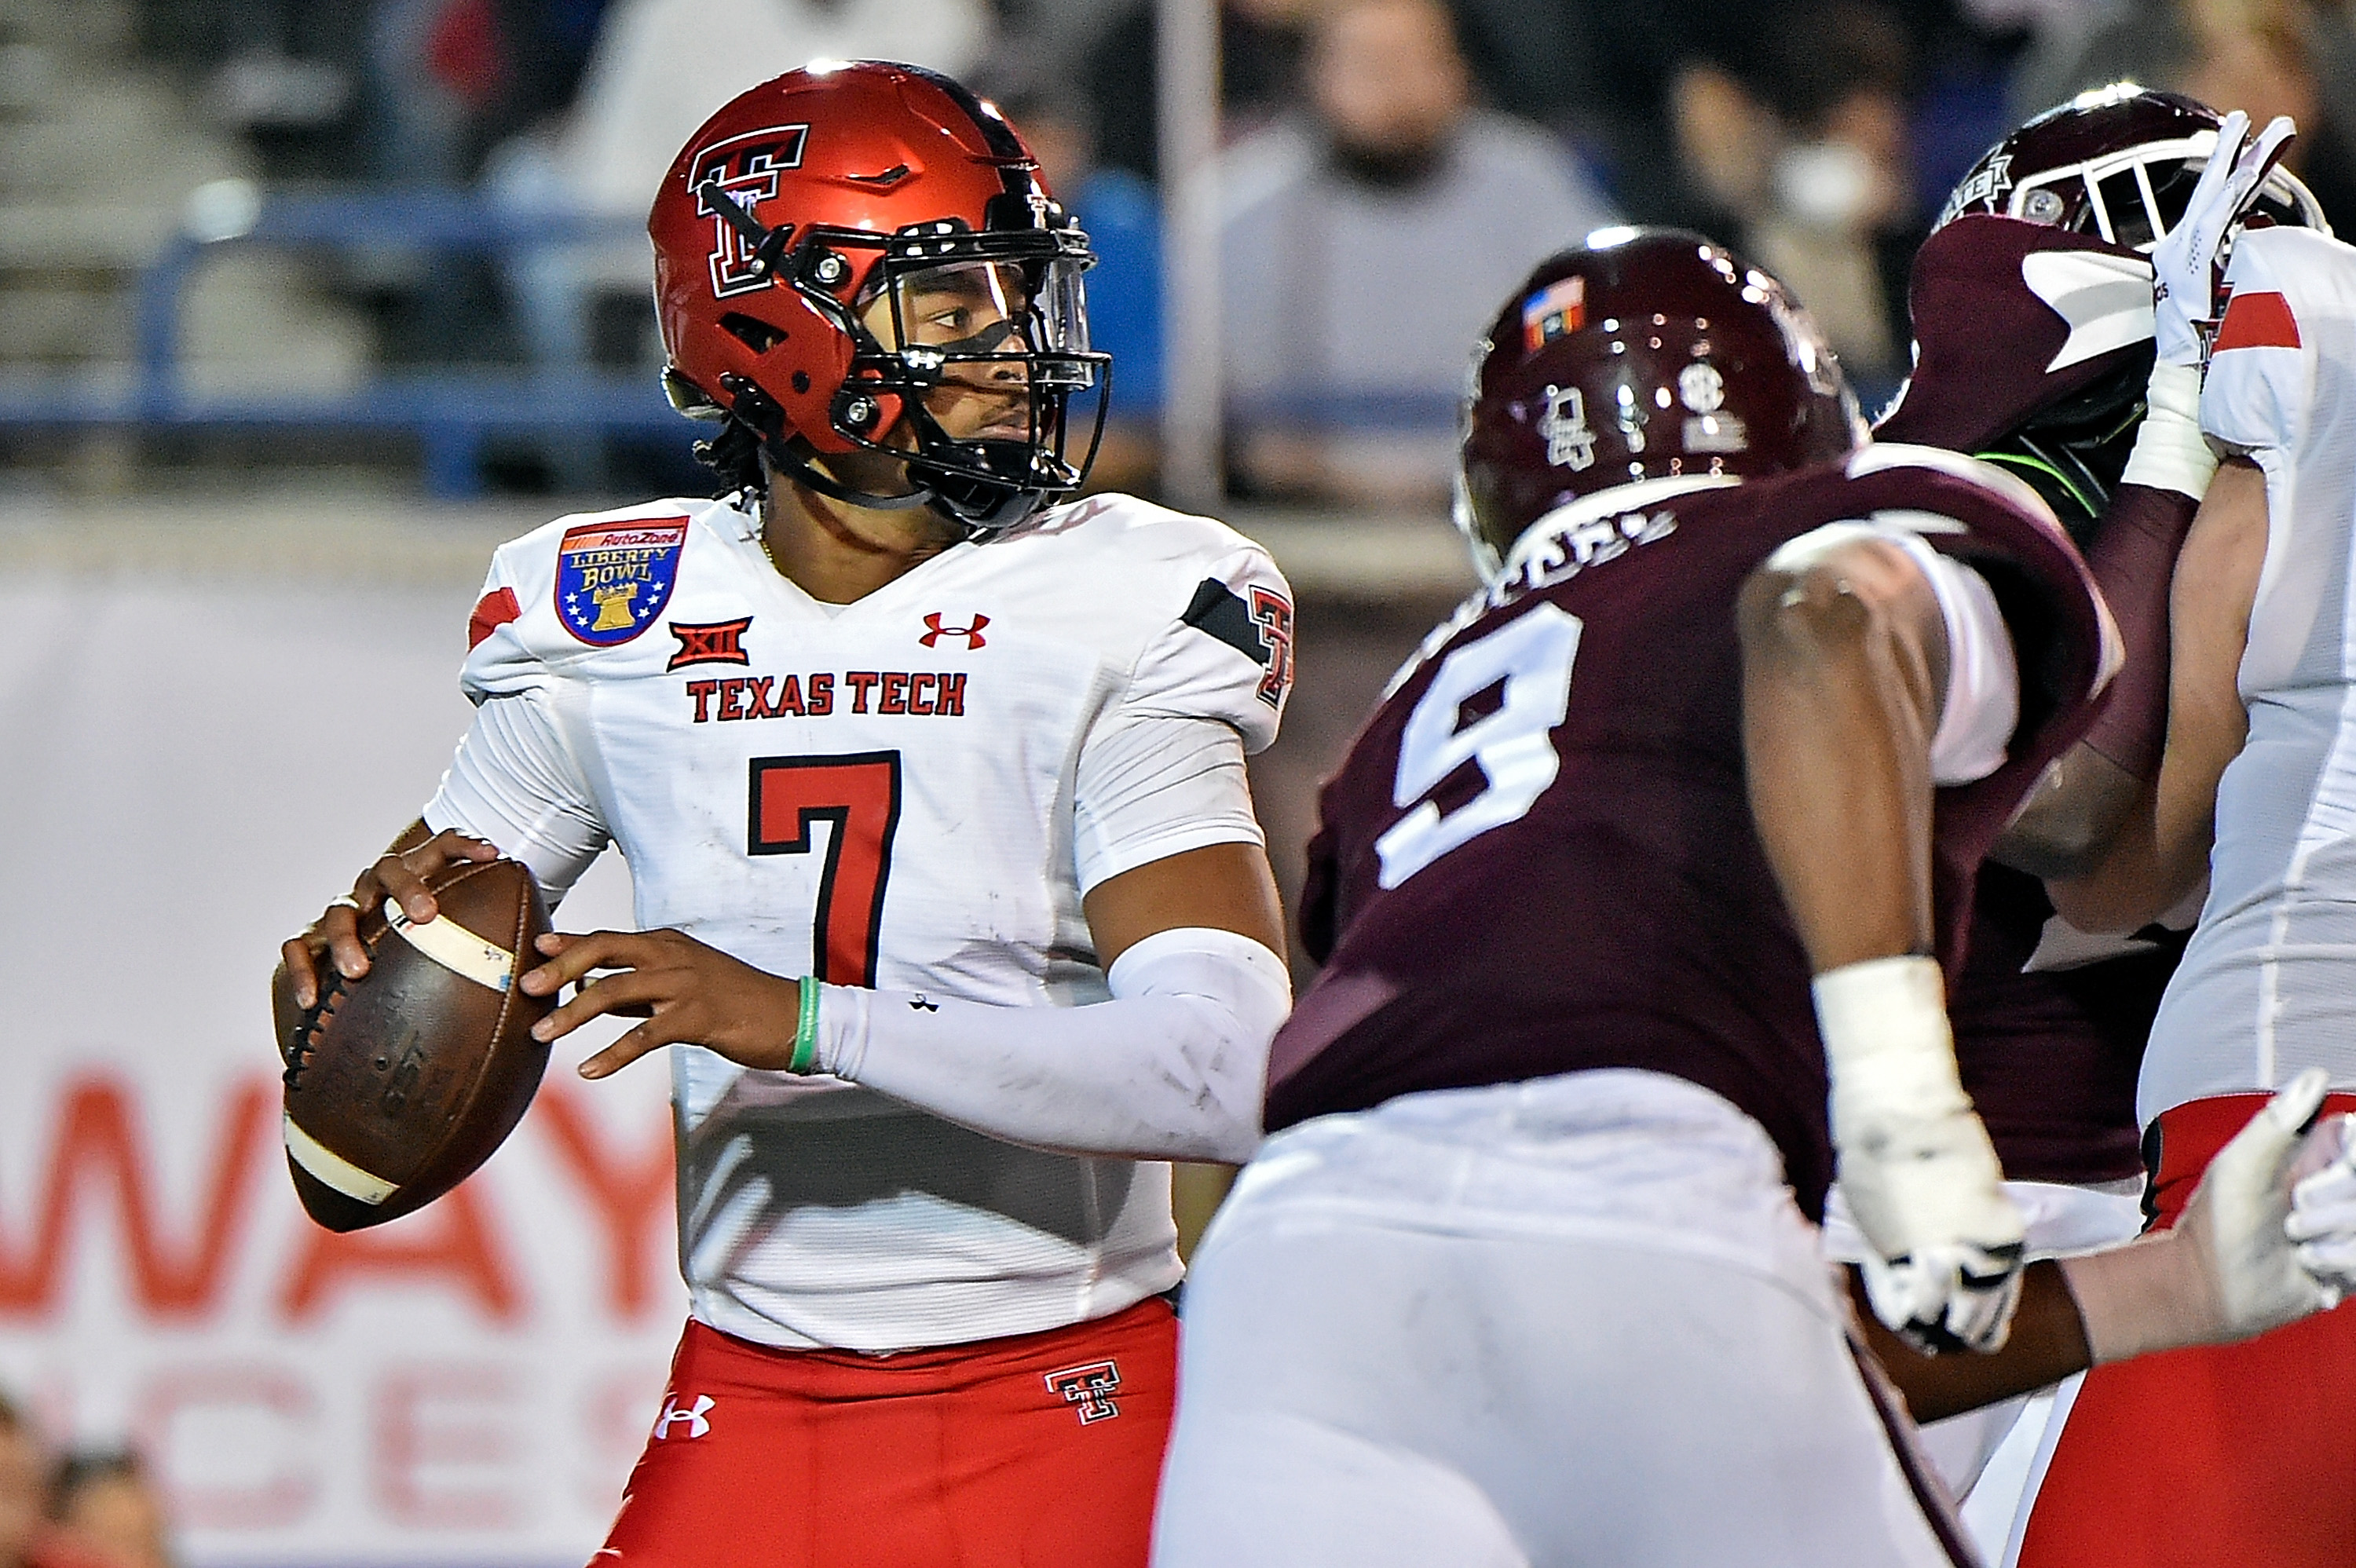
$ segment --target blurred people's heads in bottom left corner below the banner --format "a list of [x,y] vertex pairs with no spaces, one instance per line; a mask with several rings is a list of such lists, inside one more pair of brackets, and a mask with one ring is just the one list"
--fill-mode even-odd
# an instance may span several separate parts
[[57,1455],[0,1398],[0,1568],[172,1568],[146,1469],[125,1450]]

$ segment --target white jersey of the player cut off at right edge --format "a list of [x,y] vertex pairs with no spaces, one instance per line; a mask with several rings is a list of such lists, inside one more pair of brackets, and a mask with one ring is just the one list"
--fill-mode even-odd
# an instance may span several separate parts
[[2356,250],[2252,228],[2201,388],[2201,428],[2266,473],[2266,565],[2217,786],[2210,895],[2151,1026],[2137,1114],[2276,1088],[2356,1088]]

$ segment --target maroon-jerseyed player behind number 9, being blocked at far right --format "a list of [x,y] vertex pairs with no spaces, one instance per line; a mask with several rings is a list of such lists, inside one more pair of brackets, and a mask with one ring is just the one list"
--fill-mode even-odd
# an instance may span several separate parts
[[[2217,459],[2201,436],[2198,370],[2153,356],[2149,254],[2184,221],[2219,122],[2203,104],[2123,82],[1988,148],[1913,261],[1913,374],[1875,428],[1972,452],[2036,487],[2085,551],[2125,645],[2104,713],[1981,869],[1948,998],[1963,1085],[2031,1255],[2142,1229],[2135,1074],[2196,913],[2186,899],[2139,932],[2087,935],[2054,916],[2040,873],[2083,871],[2158,768],[2168,584]],[[2281,170],[2250,205],[2264,221],[2321,224]],[[1838,1191],[1831,1208],[1828,1250],[1861,1260]],[[1998,1406],[1939,1424],[1925,1448],[1965,1493],[2017,1415]]]

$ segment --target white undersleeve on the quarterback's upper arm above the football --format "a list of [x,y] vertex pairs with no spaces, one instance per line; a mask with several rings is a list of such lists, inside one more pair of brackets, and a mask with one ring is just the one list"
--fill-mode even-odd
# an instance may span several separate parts
[[474,711],[424,822],[436,833],[488,838],[521,859],[551,909],[610,843],[542,690],[490,697]]

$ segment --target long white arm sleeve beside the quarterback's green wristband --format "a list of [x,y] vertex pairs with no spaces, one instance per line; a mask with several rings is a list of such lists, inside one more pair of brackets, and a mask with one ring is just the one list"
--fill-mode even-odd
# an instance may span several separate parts
[[825,986],[818,1071],[1018,1144],[1249,1161],[1268,1043],[1293,1003],[1284,961],[1183,925],[1131,946],[1105,979],[1112,1001],[1086,1008]]

